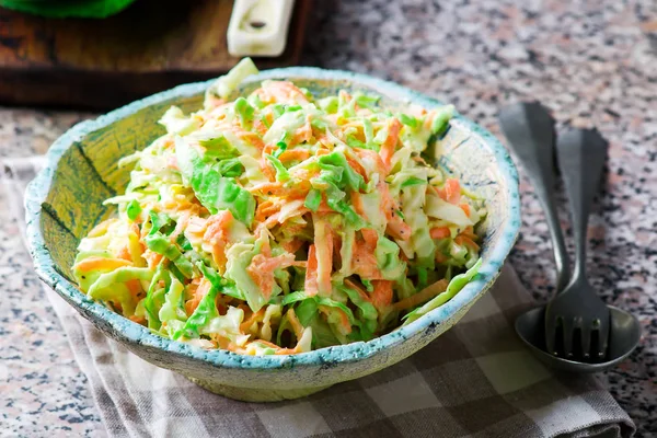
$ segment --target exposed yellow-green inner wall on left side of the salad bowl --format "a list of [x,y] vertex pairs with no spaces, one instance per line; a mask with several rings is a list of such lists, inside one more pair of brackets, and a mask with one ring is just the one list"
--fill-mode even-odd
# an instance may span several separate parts
[[53,169],[53,183],[42,203],[41,229],[55,268],[69,281],[73,281],[71,266],[80,240],[115,211],[103,206],[103,200],[125,191],[129,181],[129,171],[119,170],[118,160],[165,132],[158,120],[171,105],[196,111],[203,95],[166,100],[71,139]]

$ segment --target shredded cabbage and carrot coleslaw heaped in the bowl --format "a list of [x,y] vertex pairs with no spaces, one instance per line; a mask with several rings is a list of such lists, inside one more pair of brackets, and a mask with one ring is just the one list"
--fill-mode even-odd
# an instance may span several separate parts
[[369,341],[476,274],[482,200],[430,164],[451,106],[393,113],[371,95],[315,99],[241,61],[204,108],[170,108],[118,214],[79,246],[94,300],[162,336],[246,355]]

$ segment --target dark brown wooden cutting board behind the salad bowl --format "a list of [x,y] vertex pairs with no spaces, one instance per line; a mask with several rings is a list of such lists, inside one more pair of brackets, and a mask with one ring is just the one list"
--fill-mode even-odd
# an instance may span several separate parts
[[[299,61],[311,0],[296,0],[285,53]],[[214,78],[228,54],[230,0],[138,0],[105,20],[50,20],[0,8],[0,104],[107,110],[180,83]]]

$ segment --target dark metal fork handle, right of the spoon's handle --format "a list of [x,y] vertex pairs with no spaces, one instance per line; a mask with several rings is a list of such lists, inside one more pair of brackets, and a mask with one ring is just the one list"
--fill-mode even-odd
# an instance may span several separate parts
[[561,131],[556,141],[558,166],[570,204],[575,240],[572,283],[586,278],[588,217],[602,178],[607,149],[607,141],[595,129],[569,128]]

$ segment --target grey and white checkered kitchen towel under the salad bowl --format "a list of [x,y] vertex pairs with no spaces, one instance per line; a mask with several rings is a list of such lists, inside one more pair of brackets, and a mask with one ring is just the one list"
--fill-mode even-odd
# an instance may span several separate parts
[[[41,159],[4,162],[21,200]],[[514,333],[531,306],[507,266],[453,328],[383,371],[306,399],[258,404],[207,392],[105,337],[53,291],[111,437],[630,437],[634,425],[587,376],[556,376]]]

